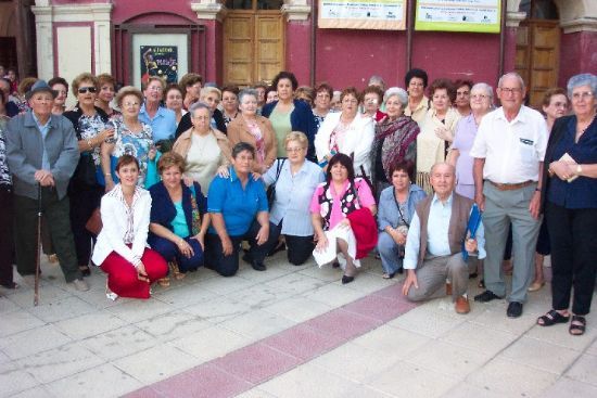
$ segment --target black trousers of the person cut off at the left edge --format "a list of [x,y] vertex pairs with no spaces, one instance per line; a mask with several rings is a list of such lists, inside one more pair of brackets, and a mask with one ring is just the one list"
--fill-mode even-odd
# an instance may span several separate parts
[[14,217],[12,187],[0,185],[0,284],[13,282],[14,240],[12,223]]

